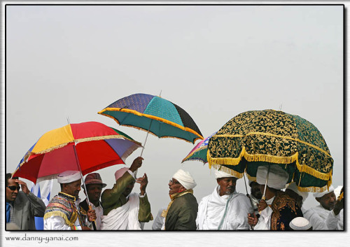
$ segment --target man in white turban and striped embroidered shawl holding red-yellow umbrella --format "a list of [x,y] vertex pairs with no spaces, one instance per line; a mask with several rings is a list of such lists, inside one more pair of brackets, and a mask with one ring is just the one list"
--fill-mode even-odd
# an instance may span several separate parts
[[87,225],[96,220],[96,213],[92,209],[87,211],[87,215],[80,211],[80,172],[64,171],[57,175],[57,181],[61,192],[46,207],[44,230],[90,230]]

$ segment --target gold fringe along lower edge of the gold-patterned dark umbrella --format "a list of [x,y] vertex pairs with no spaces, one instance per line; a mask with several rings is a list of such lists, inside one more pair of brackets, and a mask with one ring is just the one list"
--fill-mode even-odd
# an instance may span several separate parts
[[[332,179],[332,170],[328,172],[327,174],[323,174],[321,171],[316,171],[314,168],[311,168],[307,166],[306,164],[301,165],[298,160],[299,153],[295,153],[294,155],[290,157],[276,157],[272,155],[250,155],[246,152],[246,148],[242,148],[241,153],[239,157],[237,158],[213,158],[210,155],[210,152],[207,152],[207,160],[209,163],[209,168],[211,168],[212,164],[225,164],[225,165],[232,165],[235,166],[241,162],[241,158],[244,157],[248,162],[270,162],[274,164],[291,164],[295,162],[296,167],[300,173],[307,173],[311,176],[314,176],[315,178],[322,179],[324,181],[331,181]],[[301,178],[301,176],[300,176]]]

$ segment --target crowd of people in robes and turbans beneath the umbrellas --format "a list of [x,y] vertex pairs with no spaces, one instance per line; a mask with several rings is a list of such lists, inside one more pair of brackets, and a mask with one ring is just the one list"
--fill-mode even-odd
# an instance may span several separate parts
[[[35,216],[43,217],[44,230],[143,230],[153,215],[147,175],[134,175],[142,160],[118,169],[113,188],[104,192],[98,173],[88,174],[82,185],[79,171],[64,171],[57,176],[61,190],[47,206],[24,181],[6,174],[6,230],[36,230]],[[277,165],[258,167],[250,195],[236,191],[237,176],[216,170],[215,177],[218,185],[198,204],[195,180],[179,169],[169,181],[170,202],[158,211],[152,230],[344,230],[344,198],[336,198],[332,185],[311,193],[319,204],[304,209],[310,193],[297,190],[294,182],[286,188],[288,174]],[[134,183],[140,184],[139,193],[132,192]]]

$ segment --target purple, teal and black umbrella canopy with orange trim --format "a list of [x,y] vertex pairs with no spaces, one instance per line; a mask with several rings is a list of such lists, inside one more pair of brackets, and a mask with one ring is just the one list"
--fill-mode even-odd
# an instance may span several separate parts
[[144,129],[160,138],[174,137],[195,143],[203,139],[195,121],[183,108],[150,94],[132,94],[107,106],[99,114],[119,125]]

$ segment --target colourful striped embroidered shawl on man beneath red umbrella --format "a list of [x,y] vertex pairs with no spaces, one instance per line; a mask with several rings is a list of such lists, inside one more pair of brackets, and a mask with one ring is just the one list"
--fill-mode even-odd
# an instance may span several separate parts
[[50,218],[51,216],[60,216],[64,218],[64,221],[71,227],[72,230],[76,230],[74,223],[77,219],[79,220],[80,226],[86,226],[86,211],[78,211],[75,202],[76,197],[59,192],[58,195],[53,197],[48,203],[45,210],[44,219]]

